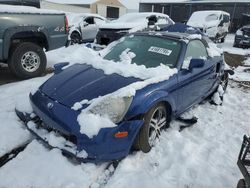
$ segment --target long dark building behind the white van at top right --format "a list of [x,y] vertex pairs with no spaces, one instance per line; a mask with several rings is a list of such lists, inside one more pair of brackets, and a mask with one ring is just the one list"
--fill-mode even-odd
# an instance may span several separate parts
[[175,22],[185,22],[199,10],[223,10],[231,15],[230,31],[240,27],[242,14],[250,13],[250,0],[141,0],[140,12],[168,14]]

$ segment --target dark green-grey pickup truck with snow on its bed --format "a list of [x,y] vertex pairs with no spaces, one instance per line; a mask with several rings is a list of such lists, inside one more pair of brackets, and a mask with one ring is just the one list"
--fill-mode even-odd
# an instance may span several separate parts
[[45,51],[65,46],[65,13],[26,6],[0,6],[0,62],[22,79],[40,76],[47,65]]

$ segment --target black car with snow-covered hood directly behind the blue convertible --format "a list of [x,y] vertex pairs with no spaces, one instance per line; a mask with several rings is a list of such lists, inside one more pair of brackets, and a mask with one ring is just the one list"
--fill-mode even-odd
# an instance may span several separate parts
[[96,42],[108,45],[127,33],[146,29],[148,25],[163,28],[171,24],[174,24],[174,21],[166,14],[156,12],[128,13],[117,20],[102,25],[97,33]]

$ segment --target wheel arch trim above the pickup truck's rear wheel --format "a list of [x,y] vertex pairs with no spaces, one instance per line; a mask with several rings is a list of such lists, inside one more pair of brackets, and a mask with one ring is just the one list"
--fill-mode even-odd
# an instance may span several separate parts
[[11,37],[13,35],[20,33],[20,32],[34,32],[43,34],[48,42],[48,46],[50,46],[50,38],[48,31],[42,26],[17,26],[17,27],[10,27],[6,29],[3,35],[3,59],[8,59],[9,56],[9,49],[11,45]]

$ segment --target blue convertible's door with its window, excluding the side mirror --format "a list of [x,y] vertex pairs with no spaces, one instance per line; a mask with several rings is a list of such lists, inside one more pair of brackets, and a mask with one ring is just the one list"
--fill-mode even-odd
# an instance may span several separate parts
[[[191,59],[204,59],[205,65],[189,70]],[[187,45],[186,54],[178,72],[179,110],[185,111],[204,99],[216,79],[215,63],[208,56],[207,49],[201,40],[192,40]]]

